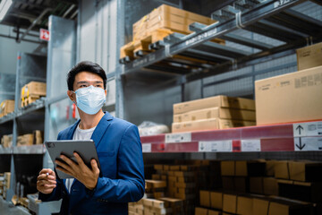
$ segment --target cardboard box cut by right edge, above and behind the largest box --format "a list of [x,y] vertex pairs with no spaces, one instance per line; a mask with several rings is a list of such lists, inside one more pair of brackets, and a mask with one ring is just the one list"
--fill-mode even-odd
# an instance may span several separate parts
[[296,50],[298,70],[322,65],[322,42]]

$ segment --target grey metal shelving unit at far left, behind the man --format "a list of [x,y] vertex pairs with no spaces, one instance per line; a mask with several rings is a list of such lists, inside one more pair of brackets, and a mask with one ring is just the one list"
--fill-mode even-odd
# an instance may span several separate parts
[[[64,115],[65,108],[71,106],[66,96],[65,74],[75,64],[76,25],[72,20],[55,16],[49,17],[49,23],[51,39],[48,43],[47,56],[21,52],[18,54],[14,112],[0,118],[0,127],[6,128],[6,131],[1,131],[0,134],[13,133],[13,146],[0,148],[0,159],[7,155],[10,155],[11,159],[9,170],[12,173],[11,188],[7,192],[7,202],[10,202],[16,193],[17,176],[21,180],[23,180],[23,174],[32,174],[37,178],[41,168],[51,168],[53,165],[43,145],[17,147],[18,135],[37,128],[44,131],[45,140],[56,139],[59,130],[75,121],[72,117],[65,118]],[[38,99],[27,107],[20,107],[21,87],[30,81],[47,82],[47,97]],[[72,116],[72,109],[69,112],[69,116]],[[63,121],[61,118],[64,119],[64,123],[60,125],[59,123]],[[31,161],[33,163],[30,165]],[[24,172],[25,165],[22,164],[29,165],[30,169],[34,168],[30,173]],[[58,212],[60,202],[40,204],[34,202],[34,204],[31,211],[36,214],[51,214],[51,212]]]

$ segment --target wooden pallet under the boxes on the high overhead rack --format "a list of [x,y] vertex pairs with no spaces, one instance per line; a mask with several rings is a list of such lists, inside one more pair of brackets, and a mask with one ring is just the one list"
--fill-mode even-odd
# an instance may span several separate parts
[[[164,46],[163,39],[165,39],[165,37],[173,33],[174,31],[168,30],[168,29],[157,29],[149,32],[147,36],[141,39],[136,39],[135,41],[131,41],[130,43],[121,47],[120,63],[121,64],[129,63],[131,62],[131,60],[134,60],[141,56],[145,56],[148,53],[155,51],[155,49],[159,47],[163,47]],[[216,42],[221,45],[225,45],[224,39],[212,39],[210,41]],[[195,59],[193,57],[174,56],[174,58],[176,57],[184,60],[190,60],[190,61],[199,62],[202,64],[207,64],[206,61]]]

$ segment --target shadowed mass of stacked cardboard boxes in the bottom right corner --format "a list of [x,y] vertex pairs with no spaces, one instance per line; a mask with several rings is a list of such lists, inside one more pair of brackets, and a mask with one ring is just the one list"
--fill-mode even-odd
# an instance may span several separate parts
[[225,160],[221,173],[223,189],[200,190],[196,215],[322,213],[321,162]]

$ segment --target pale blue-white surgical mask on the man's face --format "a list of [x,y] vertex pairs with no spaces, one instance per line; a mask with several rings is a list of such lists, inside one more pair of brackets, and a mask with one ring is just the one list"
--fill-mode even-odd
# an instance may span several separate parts
[[95,115],[106,102],[105,90],[90,85],[75,91],[76,105],[89,115]]

